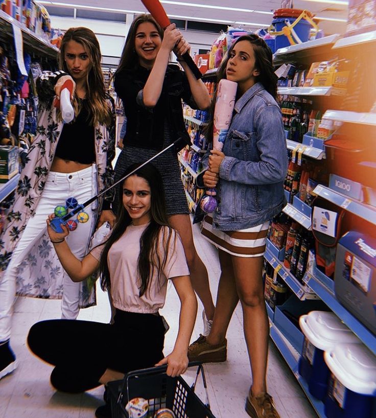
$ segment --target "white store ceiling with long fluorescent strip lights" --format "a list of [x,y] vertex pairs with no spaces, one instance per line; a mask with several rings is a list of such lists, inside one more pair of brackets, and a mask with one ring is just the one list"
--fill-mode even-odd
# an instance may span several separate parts
[[[117,9],[128,13],[145,12],[146,9],[140,0],[52,0],[48,4],[43,2],[48,8],[48,4],[56,6],[80,6],[99,8],[100,10]],[[180,4],[176,4],[180,3]],[[296,0],[294,7],[297,9],[307,9],[314,12],[318,17],[343,19],[347,18],[347,5],[338,4],[344,1],[308,1]],[[243,22],[244,27],[257,28],[258,25],[270,25],[272,14],[262,14],[261,12],[271,12],[280,7],[280,0],[181,0],[161,1],[163,8],[171,18],[200,20],[208,22],[219,22],[222,24],[232,24],[233,22]],[[199,5],[213,6],[213,8],[199,7]],[[68,6],[68,7],[69,7]],[[236,8],[236,10],[232,10]],[[243,10],[239,10],[243,9]],[[262,26],[261,26],[262,27]],[[345,22],[322,20],[319,27],[325,34],[343,33]]]

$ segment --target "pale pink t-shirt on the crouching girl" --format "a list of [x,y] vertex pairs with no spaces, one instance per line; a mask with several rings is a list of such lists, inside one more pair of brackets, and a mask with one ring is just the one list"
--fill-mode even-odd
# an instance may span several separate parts
[[[147,291],[139,297],[140,280],[137,263],[140,251],[140,238],[148,224],[129,225],[122,237],[112,244],[108,251],[108,269],[111,277],[111,296],[113,306],[122,311],[139,313],[156,313],[165,305],[167,280],[177,276],[189,275],[183,245],[179,234],[168,227],[163,227],[159,238],[160,259],[165,256],[165,246],[169,231],[168,259],[161,272],[154,273]],[[90,254],[100,260],[103,245],[93,248]],[[159,283],[158,283],[159,282]]]

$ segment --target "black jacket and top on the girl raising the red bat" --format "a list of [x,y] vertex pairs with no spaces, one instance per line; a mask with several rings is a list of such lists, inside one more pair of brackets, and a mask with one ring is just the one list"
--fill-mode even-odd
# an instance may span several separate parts
[[189,142],[181,100],[192,108],[197,108],[197,105],[192,98],[184,72],[177,65],[168,65],[161,95],[153,108],[147,108],[143,104],[143,89],[149,75],[148,69],[138,66],[133,70],[124,69],[115,76],[115,92],[123,101],[127,117],[127,131],[123,144],[159,151],[163,145],[169,145],[164,144],[166,123],[170,130],[171,142],[181,136],[186,136]]

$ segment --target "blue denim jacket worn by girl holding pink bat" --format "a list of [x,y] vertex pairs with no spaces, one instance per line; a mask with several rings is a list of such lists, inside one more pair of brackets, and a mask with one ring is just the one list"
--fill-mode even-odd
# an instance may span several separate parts
[[[272,219],[286,204],[287,146],[279,106],[261,83],[236,102],[222,151],[213,227],[239,230]],[[201,174],[197,185],[203,185]],[[196,212],[195,221],[202,217],[199,205]]]

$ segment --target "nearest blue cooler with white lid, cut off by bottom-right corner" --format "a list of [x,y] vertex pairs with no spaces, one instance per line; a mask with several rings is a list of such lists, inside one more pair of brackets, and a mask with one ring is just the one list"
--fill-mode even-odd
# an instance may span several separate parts
[[364,344],[337,344],[324,359],[332,372],[324,401],[327,418],[375,418],[376,357]]

